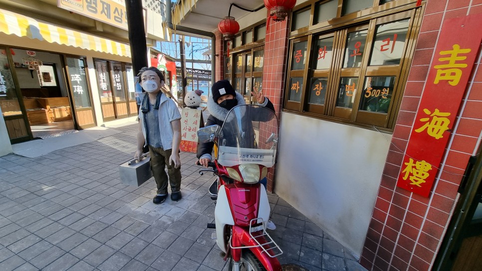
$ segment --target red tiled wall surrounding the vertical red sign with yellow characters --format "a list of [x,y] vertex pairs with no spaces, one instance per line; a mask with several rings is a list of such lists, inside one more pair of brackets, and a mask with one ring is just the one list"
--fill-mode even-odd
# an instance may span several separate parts
[[482,0],[428,0],[392,144],[373,210],[360,263],[368,270],[430,270],[440,249],[469,157],[482,131],[482,67],[474,74],[444,154],[442,173],[429,198],[396,187],[435,47],[446,19],[480,14]]

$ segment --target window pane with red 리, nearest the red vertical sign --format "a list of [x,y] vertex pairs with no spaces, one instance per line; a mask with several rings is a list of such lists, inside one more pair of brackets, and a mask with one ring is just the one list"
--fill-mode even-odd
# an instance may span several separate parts
[[402,58],[410,19],[377,25],[370,66],[398,65]]

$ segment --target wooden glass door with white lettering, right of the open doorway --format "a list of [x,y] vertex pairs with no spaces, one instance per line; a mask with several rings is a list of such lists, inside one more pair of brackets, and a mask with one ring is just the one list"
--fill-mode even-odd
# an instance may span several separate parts
[[92,96],[86,74],[86,62],[83,57],[65,57],[67,66],[67,82],[75,112],[74,124],[79,129],[95,126],[95,113],[92,107]]

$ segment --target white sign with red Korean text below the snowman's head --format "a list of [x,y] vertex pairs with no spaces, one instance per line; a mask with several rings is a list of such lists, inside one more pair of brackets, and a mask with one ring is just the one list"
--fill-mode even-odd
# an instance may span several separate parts
[[182,151],[198,151],[198,130],[204,127],[201,109],[183,108],[181,114],[181,147]]

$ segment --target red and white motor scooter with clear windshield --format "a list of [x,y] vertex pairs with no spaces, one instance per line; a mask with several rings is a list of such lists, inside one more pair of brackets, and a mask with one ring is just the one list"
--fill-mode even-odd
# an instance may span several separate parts
[[217,200],[215,223],[208,227],[216,228],[213,238],[225,260],[231,258],[230,271],[282,270],[276,257],[283,252],[266,232],[270,207],[259,183],[275,163],[277,131],[274,112],[255,105],[236,106],[223,127],[198,131],[200,142],[215,143],[213,169],[200,174],[212,171],[218,176],[218,193],[212,197]]

